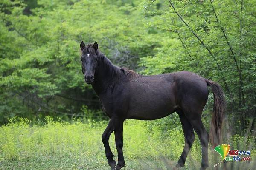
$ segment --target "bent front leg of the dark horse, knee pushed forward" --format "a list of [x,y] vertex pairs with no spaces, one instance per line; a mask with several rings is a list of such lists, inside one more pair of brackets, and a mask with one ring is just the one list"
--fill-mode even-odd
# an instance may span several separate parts
[[102,134],[102,142],[104,144],[104,148],[105,148],[105,153],[106,153],[106,157],[108,159],[108,164],[109,166],[111,167],[111,170],[114,170],[115,167],[116,167],[116,161],[113,160],[113,153],[110,149],[110,146],[109,146],[109,137],[111,135],[111,133],[113,133],[113,125],[112,125],[112,122],[111,120],[109,121],[108,123],[108,126],[106,127],[105,131],[103,132]]

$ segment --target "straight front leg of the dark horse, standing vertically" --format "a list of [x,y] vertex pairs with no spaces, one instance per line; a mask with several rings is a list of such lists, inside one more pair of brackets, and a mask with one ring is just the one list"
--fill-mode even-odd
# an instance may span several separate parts
[[123,122],[122,119],[112,118],[111,119],[113,124],[113,129],[115,133],[115,140],[116,140],[116,150],[118,154],[118,163],[116,165],[115,170],[120,170],[122,167],[125,166],[125,159],[123,156]]

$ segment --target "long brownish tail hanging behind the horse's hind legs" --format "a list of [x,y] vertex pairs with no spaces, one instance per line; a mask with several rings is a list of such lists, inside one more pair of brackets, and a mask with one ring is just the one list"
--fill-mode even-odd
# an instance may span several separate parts
[[212,122],[209,133],[209,140],[213,147],[221,142],[221,126],[224,119],[225,99],[221,86],[211,80],[206,79],[206,83],[212,88],[214,103],[212,110]]

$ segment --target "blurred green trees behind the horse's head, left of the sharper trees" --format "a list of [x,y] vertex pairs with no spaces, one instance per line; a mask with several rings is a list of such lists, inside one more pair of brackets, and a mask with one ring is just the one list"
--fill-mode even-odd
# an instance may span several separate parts
[[114,63],[140,70],[138,59],[154,55],[151,49],[160,39],[143,28],[137,5],[97,0],[1,3],[0,122],[8,115],[79,116],[84,104],[99,110],[97,96],[83,80],[79,44],[97,41]]

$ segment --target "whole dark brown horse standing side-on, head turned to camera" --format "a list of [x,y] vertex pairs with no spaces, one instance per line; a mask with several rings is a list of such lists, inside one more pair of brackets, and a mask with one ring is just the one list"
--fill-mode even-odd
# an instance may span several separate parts
[[[111,170],[125,166],[123,156],[123,122],[125,119],[154,120],[177,112],[185,136],[185,147],[176,167],[183,167],[186,157],[198,134],[202,145],[201,170],[208,167],[208,142],[220,141],[221,123],[224,115],[224,95],[221,87],[211,80],[188,71],[143,76],[112,64],[99,50],[98,44],[81,42],[81,62],[84,80],[91,84],[102,102],[110,121],[102,142]],[[214,106],[210,136],[204,128],[201,114],[208,98],[208,88],[214,94]],[[118,163],[108,139],[115,134]]]

